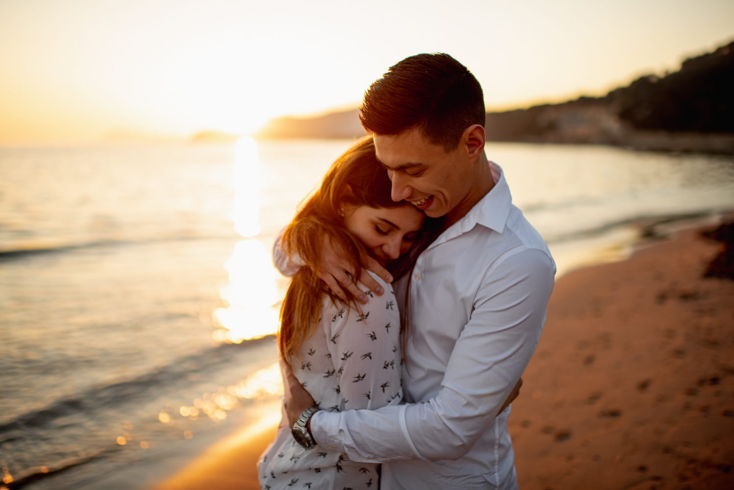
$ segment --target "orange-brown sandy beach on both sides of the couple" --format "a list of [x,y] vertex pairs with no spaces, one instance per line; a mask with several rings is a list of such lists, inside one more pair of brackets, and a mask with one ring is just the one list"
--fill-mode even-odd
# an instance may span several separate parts
[[[521,489],[734,487],[734,282],[688,230],[559,279],[512,405]],[[212,447],[155,490],[255,489],[275,425]]]

